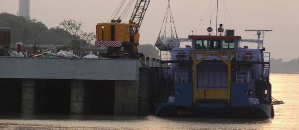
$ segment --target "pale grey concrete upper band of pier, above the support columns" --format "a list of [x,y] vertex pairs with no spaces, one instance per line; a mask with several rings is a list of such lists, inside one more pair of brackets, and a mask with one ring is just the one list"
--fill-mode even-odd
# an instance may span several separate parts
[[139,80],[139,60],[0,57],[0,78]]

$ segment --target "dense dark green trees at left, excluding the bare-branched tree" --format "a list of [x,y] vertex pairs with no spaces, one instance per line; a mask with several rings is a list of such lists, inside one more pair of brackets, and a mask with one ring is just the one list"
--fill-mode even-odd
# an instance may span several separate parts
[[9,13],[0,13],[0,26],[11,28],[11,43],[67,45],[74,39],[63,29],[48,29],[41,21]]

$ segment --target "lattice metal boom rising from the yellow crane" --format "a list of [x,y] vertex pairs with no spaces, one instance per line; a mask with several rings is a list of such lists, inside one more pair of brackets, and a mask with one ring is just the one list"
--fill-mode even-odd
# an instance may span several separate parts
[[131,19],[134,20],[134,23],[137,24],[136,33],[139,32],[142,21],[145,17],[145,14],[148,10],[150,0],[137,0],[132,13]]

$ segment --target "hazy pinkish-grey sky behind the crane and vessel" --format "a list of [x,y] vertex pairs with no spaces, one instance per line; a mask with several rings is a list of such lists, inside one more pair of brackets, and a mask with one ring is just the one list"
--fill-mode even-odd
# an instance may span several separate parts
[[[84,22],[84,31],[95,32],[98,22],[106,22],[121,0],[30,0],[31,18],[57,26],[63,19]],[[154,44],[168,0],[151,0],[144,19],[141,44]],[[196,30],[206,35],[210,20],[211,0],[170,0],[180,38]],[[212,0],[212,4],[216,0]],[[224,9],[224,3],[227,10]],[[242,38],[257,38],[255,32],[245,29],[273,29],[265,37],[265,47],[274,58],[285,61],[299,56],[299,0],[219,0],[219,23],[225,29],[236,29]],[[208,10],[208,11],[207,11]],[[0,0],[0,12],[16,14],[18,0]],[[206,16],[205,12],[208,12]],[[229,12],[229,13],[228,13]],[[213,14],[215,16],[216,14]],[[231,18],[230,18],[231,16]],[[232,19],[232,20],[231,20]],[[215,18],[212,19],[215,29]],[[233,22],[231,22],[233,21]]]

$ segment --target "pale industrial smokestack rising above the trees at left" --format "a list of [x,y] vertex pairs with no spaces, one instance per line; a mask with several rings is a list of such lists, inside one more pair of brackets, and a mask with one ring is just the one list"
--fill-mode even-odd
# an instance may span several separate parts
[[19,0],[18,15],[30,19],[30,0]]

